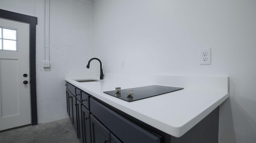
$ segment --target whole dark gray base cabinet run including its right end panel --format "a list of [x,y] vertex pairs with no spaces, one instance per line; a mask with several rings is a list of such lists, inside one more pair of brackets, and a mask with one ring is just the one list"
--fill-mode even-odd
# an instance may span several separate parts
[[173,137],[70,83],[66,98],[67,113],[80,143],[218,143],[219,107],[182,137]]

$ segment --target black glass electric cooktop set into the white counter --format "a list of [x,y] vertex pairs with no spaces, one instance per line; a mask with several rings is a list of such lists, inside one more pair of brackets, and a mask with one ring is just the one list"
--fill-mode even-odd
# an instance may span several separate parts
[[[114,96],[116,98],[125,100],[127,102],[132,102],[132,101],[141,100],[141,99],[145,99],[153,96],[158,96],[161,94],[166,94],[169,92],[174,92],[181,89],[183,88],[151,85],[151,86],[143,86],[143,87],[137,87],[137,88],[121,89],[120,92],[116,92],[116,90],[104,91],[104,93]],[[128,96],[127,90],[129,91],[133,90],[133,95]]]

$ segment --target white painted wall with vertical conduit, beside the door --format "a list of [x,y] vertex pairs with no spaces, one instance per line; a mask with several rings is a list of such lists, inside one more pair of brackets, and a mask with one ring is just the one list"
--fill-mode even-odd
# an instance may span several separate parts
[[44,0],[1,0],[0,9],[36,16],[38,123],[68,118],[65,75],[86,75],[91,58],[92,6],[78,0],[50,0],[50,63],[44,69]]

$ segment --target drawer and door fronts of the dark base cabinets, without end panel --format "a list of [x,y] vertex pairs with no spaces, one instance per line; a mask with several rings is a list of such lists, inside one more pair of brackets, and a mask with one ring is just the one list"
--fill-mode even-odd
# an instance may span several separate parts
[[67,112],[80,143],[160,143],[161,137],[128,121],[70,83],[66,96]]

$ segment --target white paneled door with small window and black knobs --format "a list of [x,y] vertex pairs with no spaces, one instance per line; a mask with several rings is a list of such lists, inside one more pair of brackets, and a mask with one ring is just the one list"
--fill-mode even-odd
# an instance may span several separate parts
[[0,18],[0,33],[1,131],[31,123],[29,24]]

